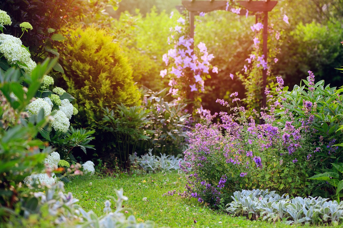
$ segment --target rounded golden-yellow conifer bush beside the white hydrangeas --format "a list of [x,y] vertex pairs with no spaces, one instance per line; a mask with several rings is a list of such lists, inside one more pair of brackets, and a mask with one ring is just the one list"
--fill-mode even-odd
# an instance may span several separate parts
[[132,79],[132,69],[118,44],[105,30],[77,28],[70,32],[62,66],[68,93],[77,99],[78,127],[96,127],[103,118],[102,107],[140,104],[140,94]]

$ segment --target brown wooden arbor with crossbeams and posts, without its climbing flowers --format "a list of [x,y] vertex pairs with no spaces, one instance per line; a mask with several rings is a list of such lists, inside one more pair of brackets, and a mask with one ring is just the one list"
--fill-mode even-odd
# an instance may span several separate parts
[[[268,12],[272,11],[275,7],[277,1],[262,0],[262,1],[236,1],[242,8],[249,11],[249,15],[256,15],[257,12],[263,12],[263,55],[264,60],[267,62],[267,40],[268,40]],[[180,12],[184,9],[189,11],[189,20],[190,20],[190,37],[194,38],[194,16],[199,15],[201,12],[208,13],[215,10],[226,10],[227,1],[196,1],[196,0],[183,0],[182,5],[176,7]],[[228,11],[232,7],[228,7]],[[240,11],[240,15],[246,15],[246,11]],[[257,15],[256,15],[257,16]],[[257,18],[256,18],[257,22]],[[262,76],[262,106],[267,106],[267,97],[264,94],[264,88],[267,86],[267,70],[263,70]]]

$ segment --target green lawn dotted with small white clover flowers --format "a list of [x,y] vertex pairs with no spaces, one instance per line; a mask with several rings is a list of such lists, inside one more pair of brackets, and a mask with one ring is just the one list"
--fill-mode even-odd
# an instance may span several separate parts
[[[138,221],[152,220],[156,227],[296,227],[232,217],[205,207],[196,199],[182,199],[178,195],[162,196],[171,190],[183,192],[185,183],[185,178],[173,171],[139,176],[122,174],[117,178],[84,176],[76,178],[64,188],[80,200],[78,204],[86,211],[93,210],[98,216],[103,214],[104,202],[109,199],[107,196],[116,196],[114,189],[123,188],[124,195],[129,197],[123,205],[133,209]],[[143,201],[143,197],[147,201]]]

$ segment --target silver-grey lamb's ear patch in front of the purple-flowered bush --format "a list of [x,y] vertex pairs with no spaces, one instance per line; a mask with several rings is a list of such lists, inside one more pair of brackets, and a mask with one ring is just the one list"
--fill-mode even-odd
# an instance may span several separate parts
[[285,224],[312,224],[320,221],[338,225],[343,221],[343,203],[328,201],[321,197],[295,197],[280,196],[275,191],[268,190],[242,190],[234,192],[233,201],[226,204],[226,211],[234,215],[244,215],[255,219],[259,215],[262,220],[276,222],[281,220]]

